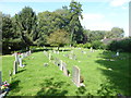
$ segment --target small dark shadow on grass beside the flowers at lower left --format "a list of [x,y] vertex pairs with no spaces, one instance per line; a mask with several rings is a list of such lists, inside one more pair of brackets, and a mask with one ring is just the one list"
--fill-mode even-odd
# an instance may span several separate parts
[[17,93],[21,90],[22,87],[19,86],[20,83],[20,81],[14,81],[10,84],[10,88],[13,93]]

